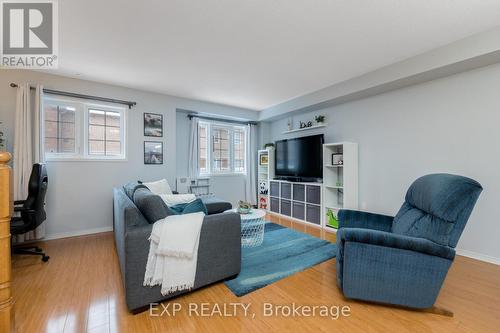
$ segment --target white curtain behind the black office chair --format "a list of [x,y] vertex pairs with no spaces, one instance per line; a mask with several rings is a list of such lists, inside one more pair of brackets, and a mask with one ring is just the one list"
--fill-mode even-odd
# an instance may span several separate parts
[[[16,118],[14,130],[14,200],[25,200],[28,196],[28,182],[34,163],[43,163],[40,122],[43,108],[43,87],[37,85],[35,103],[31,106],[30,85],[20,84],[17,88]],[[45,223],[36,230],[19,235],[17,242],[39,239],[45,235]]]

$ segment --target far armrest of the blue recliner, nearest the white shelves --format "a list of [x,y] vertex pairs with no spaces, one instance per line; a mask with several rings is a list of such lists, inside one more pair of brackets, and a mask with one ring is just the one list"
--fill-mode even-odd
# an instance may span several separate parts
[[363,228],[391,231],[394,217],[388,215],[341,209],[338,214],[340,228]]

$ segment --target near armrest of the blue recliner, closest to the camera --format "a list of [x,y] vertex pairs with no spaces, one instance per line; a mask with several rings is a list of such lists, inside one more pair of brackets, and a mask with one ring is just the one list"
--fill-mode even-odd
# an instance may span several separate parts
[[390,232],[360,228],[344,228],[340,235],[337,234],[338,236],[343,242],[357,242],[416,251],[449,260],[455,258],[455,249],[439,245],[425,238],[408,237]]

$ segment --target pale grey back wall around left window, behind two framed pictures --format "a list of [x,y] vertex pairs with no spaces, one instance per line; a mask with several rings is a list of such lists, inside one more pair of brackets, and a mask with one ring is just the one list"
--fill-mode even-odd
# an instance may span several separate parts
[[[175,184],[176,109],[204,110],[213,114],[237,114],[256,119],[257,113],[239,108],[203,103],[95,82],[24,70],[3,70],[0,76],[0,122],[12,152],[15,94],[10,82],[41,83],[46,88],[96,96],[132,100],[137,106],[128,113],[128,160],[126,162],[49,162],[47,234],[49,238],[109,230],[112,226],[112,188],[131,180],[167,178]],[[144,165],[143,112],[163,114],[164,164]]]

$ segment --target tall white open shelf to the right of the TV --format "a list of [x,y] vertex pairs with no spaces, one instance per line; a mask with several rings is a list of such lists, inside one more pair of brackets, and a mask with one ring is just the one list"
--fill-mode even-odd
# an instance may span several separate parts
[[337,218],[340,209],[358,209],[358,144],[324,144],[323,164],[323,228],[336,232],[329,224],[328,212]]

